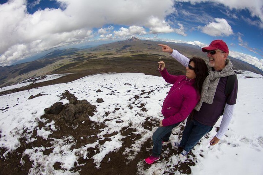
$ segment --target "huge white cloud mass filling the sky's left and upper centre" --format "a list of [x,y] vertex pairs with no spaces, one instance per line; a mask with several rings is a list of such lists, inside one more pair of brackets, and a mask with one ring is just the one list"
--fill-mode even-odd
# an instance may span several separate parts
[[[128,28],[130,34],[143,35],[145,28],[138,26],[149,23],[152,15],[164,19],[174,10],[173,0],[162,3],[159,0],[57,2],[61,9],[46,8],[33,14],[27,12],[26,0],[12,0],[0,5],[1,66],[53,47],[85,42],[96,34],[110,38],[113,27],[102,28],[105,25],[132,26]],[[100,29],[91,33],[94,28]],[[121,29],[118,34],[125,36],[125,31]]]

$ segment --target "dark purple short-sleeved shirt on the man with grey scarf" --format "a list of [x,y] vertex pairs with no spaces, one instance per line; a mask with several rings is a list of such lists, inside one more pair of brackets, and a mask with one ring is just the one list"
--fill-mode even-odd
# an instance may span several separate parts
[[225,85],[227,77],[222,77],[219,80],[216,88],[216,93],[212,104],[203,103],[200,111],[195,111],[194,119],[203,125],[213,126],[221,116],[221,112],[225,107],[225,102],[229,105],[236,104],[238,82],[237,79],[234,83],[234,89],[228,99],[225,96]]

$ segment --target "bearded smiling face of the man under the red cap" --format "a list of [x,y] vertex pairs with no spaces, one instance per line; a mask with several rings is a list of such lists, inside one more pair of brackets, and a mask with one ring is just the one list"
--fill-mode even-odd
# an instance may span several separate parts
[[215,51],[215,54],[212,54],[212,50],[209,50],[207,53],[207,57],[209,59],[208,66],[213,67],[217,71],[220,71],[225,67],[225,59],[227,58],[227,53],[223,53],[223,51],[219,49]]

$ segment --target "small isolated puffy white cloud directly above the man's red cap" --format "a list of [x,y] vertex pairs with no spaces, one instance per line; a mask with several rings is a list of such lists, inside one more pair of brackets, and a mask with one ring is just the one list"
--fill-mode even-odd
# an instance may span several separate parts
[[230,36],[233,34],[231,26],[222,18],[215,18],[214,22],[210,22],[204,27],[199,26],[199,29],[210,36]]

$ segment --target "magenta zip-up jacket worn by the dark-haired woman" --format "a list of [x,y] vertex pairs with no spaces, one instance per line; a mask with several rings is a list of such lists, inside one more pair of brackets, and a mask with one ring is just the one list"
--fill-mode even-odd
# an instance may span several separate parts
[[198,92],[194,89],[195,79],[190,80],[185,75],[170,75],[166,68],[159,72],[167,83],[173,84],[163,101],[163,126],[184,121],[200,99]]

